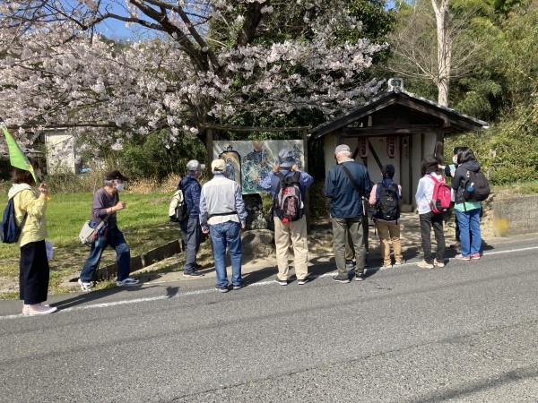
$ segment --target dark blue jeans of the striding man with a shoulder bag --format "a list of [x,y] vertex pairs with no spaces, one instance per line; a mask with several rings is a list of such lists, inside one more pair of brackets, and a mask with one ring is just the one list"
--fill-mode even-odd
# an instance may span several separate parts
[[117,227],[105,226],[100,229],[97,239],[91,244],[90,256],[82,267],[81,281],[91,281],[95,270],[99,267],[101,255],[108,245],[116,250],[117,280],[122,281],[129,277],[131,251],[126,244],[126,238]]

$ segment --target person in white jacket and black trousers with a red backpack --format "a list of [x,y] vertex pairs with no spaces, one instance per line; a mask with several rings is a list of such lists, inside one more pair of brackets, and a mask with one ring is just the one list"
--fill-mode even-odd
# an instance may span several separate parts
[[[445,234],[443,232],[443,214],[434,213],[430,209],[435,186],[435,182],[431,177],[434,176],[438,181],[443,181],[444,178],[439,169],[438,159],[433,154],[427,155],[422,160],[422,172],[424,176],[421,177],[417,193],[415,193],[415,201],[419,207],[422,250],[424,252],[424,260],[418,265],[423,269],[433,269],[435,266],[445,266]],[[431,253],[431,227],[433,227],[437,242],[435,254]]]

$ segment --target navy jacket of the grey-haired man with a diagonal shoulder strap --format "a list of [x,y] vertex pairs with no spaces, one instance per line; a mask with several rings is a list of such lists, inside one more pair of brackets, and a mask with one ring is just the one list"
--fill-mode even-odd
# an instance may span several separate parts
[[[359,186],[355,190],[342,165],[345,165]],[[366,167],[358,162],[348,160],[332,167],[325,179],[325,197],[331,199],[331,217],[334,219],[351,219],[362,215],[361,196],[369,197],[372,190],[369,173]]]

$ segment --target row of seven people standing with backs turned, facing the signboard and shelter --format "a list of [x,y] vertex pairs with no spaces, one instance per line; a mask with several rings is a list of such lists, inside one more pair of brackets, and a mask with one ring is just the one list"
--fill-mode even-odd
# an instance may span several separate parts
[[[351,279],[364,279],[366,248],[364,241],[364,220],[362,200],[367,198],[373,207],[373,220],[381,245],[383,267],[392,267],[390,244],[394,249],[395,265],[404,263],[400,238],[400,208],[402,186],[395,184],[395,167],[387,164],[382,167],[382,180],[378,184],[370,181],[367,167],[351,158],[351,150],[341,144],[334,150],[336,165],[325,178],[325,197],[330,199],[330,214],[333,227],[333,251],[337,274],[333,280],[348,283]],[[421,246],[424,258],[419,267],[433,269],[445,266],[445,237],[443,229],[444,214],[431,210],[431,201],[436,181],[445,182],[446,176],[452,177],[452,201],[456,211],[456,239],[461,253],[456,259],[469,261],[480,259],[482,236],[480,232],[481,203],[464,199],[464,186],[468,171],[480,171],[473,150],[458,147],[454,150],[453,164],[444,167],[433,155],[427,155],[421,162],[423,176],[419,181],[415,201],[418,206],[421,224]],[[187,164],[187,176],[178,184],[187,202],[188,218],[179,223],[186,244],[187,257],[183,268],[184,276],[203,276],[200,265],[196,263],[196,253],[200,247],[201,233],[209,232],[213,241],[213,256],[217,273],[217,289],[228,292],[230,285],[226,277],[226,244],[230,246],[233,289],[242,287],[241,279],[241,239],[239,228],[245,226],[246,212],[239,185],[227,179],[226,164],[216,159],[212,164],[213,179],[201,186],[198,178],[202,176],[204,165],[196,160]],[[291,150],[280,150],[278,161],[258,185],[273,196],[271,219],[274,222],[274,243],[278,273],[274,281],[287,286],[290,281],[289,248],[293,248],[293,266],[297,284],[308,283],[308,238],[304,205],[299,206],[297,218],[282,218],[282,213],[274,208],[280,197],[279,192],[286,183],[295,182],[302,199],[313,182],[312,176],[301,172]],[[302,200],[301,199],[301,200]],[[392,204],[391,204],[392,203]],[[386,206],[389,207],[386,207]],[[392,206],[392,207],[391,207]],[[431,251],[431,229],[433,227],[437,250]],[[226,232],[224,232],[226,228]]]

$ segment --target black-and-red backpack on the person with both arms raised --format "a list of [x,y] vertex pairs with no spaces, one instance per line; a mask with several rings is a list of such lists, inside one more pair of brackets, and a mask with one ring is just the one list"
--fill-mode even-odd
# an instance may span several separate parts
[[279,189],[273,203],[276,216],[282,219],[282,222],[297,221],[301,218],[300,209],[303,205],[299,186],[300,172],[287,176],[279,172],[276,176],[280,179]]

